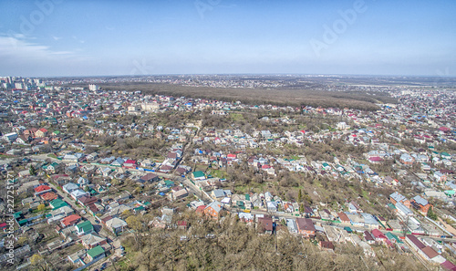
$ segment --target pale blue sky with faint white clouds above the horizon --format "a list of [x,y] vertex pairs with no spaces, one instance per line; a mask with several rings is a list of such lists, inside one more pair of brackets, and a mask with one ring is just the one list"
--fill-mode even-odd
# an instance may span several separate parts
[[0,76],[456,76],[454,0],[0,1]]

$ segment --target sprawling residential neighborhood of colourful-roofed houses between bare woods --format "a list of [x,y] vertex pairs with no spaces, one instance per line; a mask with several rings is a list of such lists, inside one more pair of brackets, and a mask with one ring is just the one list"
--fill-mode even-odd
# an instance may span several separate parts
[[145,229],[192,238],[191,214],[456,268],[453,91],[378,87],[398,102],[368,111],[0,82],[0,246],[14,233],[17,269],[121,266]]

